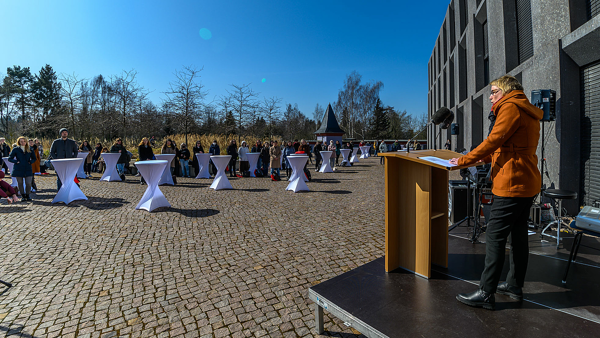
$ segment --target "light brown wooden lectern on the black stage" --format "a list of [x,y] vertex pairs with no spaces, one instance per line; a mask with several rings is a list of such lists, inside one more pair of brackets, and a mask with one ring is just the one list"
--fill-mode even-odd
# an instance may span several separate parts
[[432,263],[448,267],[448,171],[464,167],[419,157],[450,160],[462,154],[417,150],[379,155],[385,156],[385,271],[403,268],[429,278]]

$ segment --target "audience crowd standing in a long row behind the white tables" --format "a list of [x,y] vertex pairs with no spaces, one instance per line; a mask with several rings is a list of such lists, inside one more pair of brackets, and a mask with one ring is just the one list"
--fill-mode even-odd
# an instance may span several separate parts
[[[133,168],[130,166],[133,154],[125,148],[123,139],[116,139],[112,145],[96,143],[95,146],[92,146],[88,140],[78,143],[76,140],[68,138],[68,130],[66,128],[61,128],[59,134],[61,137],[54,140],[52,146],[50,146],[49,160],[76,158],[79,153],[87,152],[88,155],[84,159],[83,172],[86,178],[91,178],[92,173],[101,173],[106,169],[106,163],[104,163],[102,154],[106,152],[118,153],[121,155],[116,163],[116,170],[121,180],[126,180],[125,174],[133,174]],[[157,146],[155,140],[155,137],[151,139],[148,139],[148,137],[142,138],[139,145],[137,145],[137,161],[154,160],[156,158],[155,154],[174,154],[175,157],[170,162],[170,172],[173,177],[191,177],[190,166],[194,169],[194,173],[197,174],[199,172],[200,163],[196,154],[203,154],[205,152],[205,148],[202,146],[200,140],[197,140],[191,149],[188,149],[185,143],[177,146],[172,139],[166,139],[162,146]],[[397,151],[403,148],[398,140],[392,143],[389,148],[385,140],[381,140],[380,142],[376,140],[373,145],[369,142],[360,142],[359,146],[370,146],[370,151],[374,150],[375,155],[379,152]],[[406,146],[415,149],[420,148],[418,142],[407,143]],[[259,154],[257,169],[254,174],[258,177],[270,175],[274,180],[279,179],[281,169],[285,170],[286,177],[292,175],[292,166],[288,157],[293,154],[308,155],[310,164],[314,164],[314,171],[319,171],[322,162],[326,160],[329,161],[331,167],[352,165],[351,163],[340,163],[341,149],[350,149],[350,154],[352,154],[354,145],[352,142],[342,144],[339,140],[335,142],[331,140],[329,143],[322,143],[320,140],[317,140],[316,145],[311,147],[306,140],[302,139],[288,140],[281,145],[277,140],[264,142],[257,140],[253,145],[242,141],[241,145],[238,146],[236,140],[233,139],[229,141],[226,148],[226,154],[231,156],[226,172],[229,173],[230,177],[250,176],[250,161],[248,159],[248,153],[250,152]],[[329,158],[323,158],[322,151],[331,151]],[[19,201],[19,196],[23,201],[31,201],[31,192],[37,190],[35,175],[45,175],[47,174],[47,169],[53,169],[51,161],[42,160],[43,146],[40,140],[26,139],[26,137],[21,136],[11,147],[6,143],[4,137],[0,137],[0,153],[2,157],[8,157],[8,161],[13,163],[10,175],[17,181],[17,187],[14,189],[15,187],[11,187],[0,178],[0,197],[7,199],[9,203]],[[217,140],[213,140],[211,145],[208,146],[208,153],[211,155],[221,155],[221,148]],[[383,164],[383,159],[381,157],[380,164]],[[237,165],[238,161],[239,166]],[[304,171],[307,171],[307,166],[308,161],[304,167]],[[4,169],[1,174],[2,177],[5,174],[9,174],[7,163],[2,162],[1,159],[0,167]],[[239,174],[236,173],[238,170]],[[209,161],[208,171],[211,177],[215,177],[217,174],[217,167],[215,167],[212,161]],[[140,184],[146,184],[140,174],[136,174],[135,176],[140,177]],[[61,186],[61,180],[57,177],[57,189],[60,189]]]

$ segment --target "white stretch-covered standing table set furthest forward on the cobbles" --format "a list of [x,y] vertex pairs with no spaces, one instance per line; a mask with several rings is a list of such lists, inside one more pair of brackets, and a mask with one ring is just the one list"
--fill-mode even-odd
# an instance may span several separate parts
[[169,165],[167,160],[137,161],[137,170],[146,180],[148,187],[137,204],[136,210],[143,209],[152,211],[160,207],[170,207],[171,204],[158,188],[158,181],[163,175],[164,168]]

